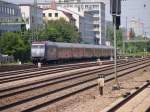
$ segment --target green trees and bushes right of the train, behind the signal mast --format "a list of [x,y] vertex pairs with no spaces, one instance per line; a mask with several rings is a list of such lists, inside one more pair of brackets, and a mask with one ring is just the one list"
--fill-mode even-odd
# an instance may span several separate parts
[[[109,40],[112,45],[114,41],[113,27],[108,27],[106,30],[107,40]],[[142,36],[135,36],[133,29],[130,29],[130,38],[132,40],[144,40]],[[125,53],[126,54],[143,54],[144,49],[147,52],[150,52],[150,41],[149,42],[129,42],[125,43]],[[123,30],[117,30],[117,48],[120,51],[123,51]]]

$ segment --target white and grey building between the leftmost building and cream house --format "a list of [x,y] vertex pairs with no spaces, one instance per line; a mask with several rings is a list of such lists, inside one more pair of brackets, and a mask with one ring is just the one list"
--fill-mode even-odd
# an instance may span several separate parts
[[31,4],[20,4],[19,8],[27,30],[43,25],[43,9]]

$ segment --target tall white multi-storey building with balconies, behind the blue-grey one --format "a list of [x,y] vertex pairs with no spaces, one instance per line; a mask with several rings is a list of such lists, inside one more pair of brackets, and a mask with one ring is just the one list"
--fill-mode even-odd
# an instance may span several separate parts
[[[39,3],[41,8],[48,8],[50,4]],[[64,8],[70,12],[76,13],[76,15],[84,15],[85,11],[91,13],[93,17],[93,32],[94,40],[96,44],[105,44],[105,4],[102,2],[93,1],[79,1],[79,0],[65,0],[57,1],[58,8]],[[76,25],[79,28],[79,19],[76,20]]]

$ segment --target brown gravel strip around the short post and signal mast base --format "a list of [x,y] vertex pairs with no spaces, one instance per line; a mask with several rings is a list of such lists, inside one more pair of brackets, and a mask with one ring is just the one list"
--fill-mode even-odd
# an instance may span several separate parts
[[37,112],[100,112],[126,92],[150,80],[150,67],[119,78],[120,90],[112,90],[114,81],[105,83],[104,95],[100,96],[97,87],[66,98],[63,101],[37,110]]

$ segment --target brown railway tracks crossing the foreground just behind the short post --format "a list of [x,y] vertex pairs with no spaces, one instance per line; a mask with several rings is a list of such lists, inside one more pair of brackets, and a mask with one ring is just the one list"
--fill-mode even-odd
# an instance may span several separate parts
[[[126,66],[125,66],[126,65]],[[120,76],[150,65],[149,59],[118,65]],[[1,111],[34,111],[97,85],[98,74],[113,79],[113,67],[74,73],[32,85],[1,90]]]

